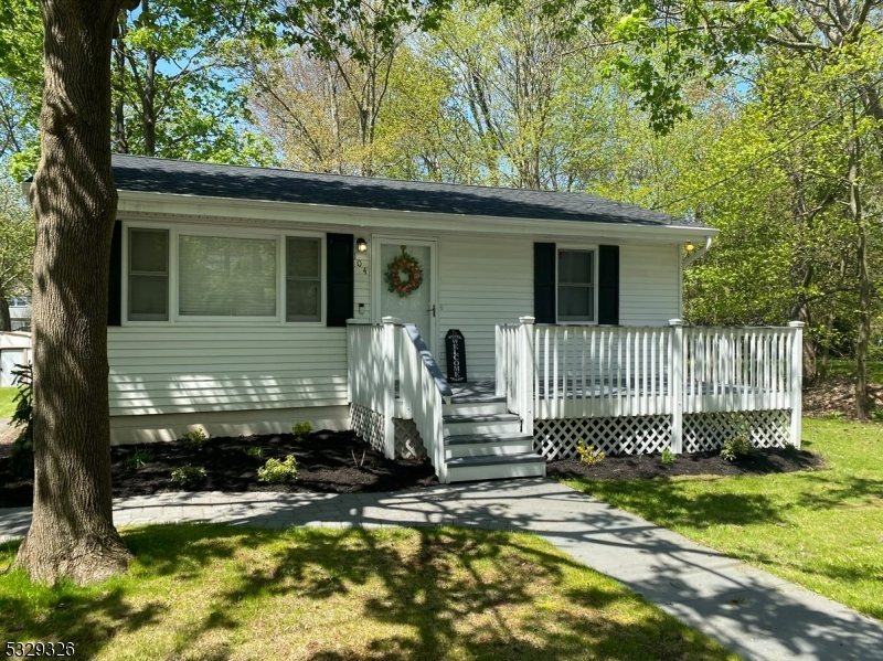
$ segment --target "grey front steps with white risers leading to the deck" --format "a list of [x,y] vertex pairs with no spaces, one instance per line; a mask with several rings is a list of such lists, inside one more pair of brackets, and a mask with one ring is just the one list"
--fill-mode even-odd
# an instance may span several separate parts
[[533,437],[506,409],[506,398],[457,397],[444,409],[445,463],[449,482],[545,476],[545,458]]

